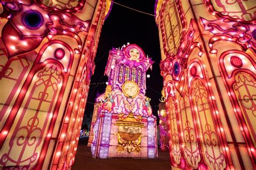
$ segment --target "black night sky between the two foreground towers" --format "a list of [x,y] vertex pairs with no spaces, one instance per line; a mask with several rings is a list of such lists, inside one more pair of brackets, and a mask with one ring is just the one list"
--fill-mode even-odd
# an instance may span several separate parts
[[[114,2],[154,14],[155,1],[115,0]],[[155,61],[152,71],[149,69],[146,73],[150,74],[150,78],[146,79],[146,96],[151,98],[150,104],[153,109],[153,115],[157,116],[158,104],[160,103],[159,98],[161,97],[161,89],[163,88],[163,78],[160,76],[159,36],[154,16],[113,4],[99,38],[98,51],[95,59],[95,74],[91,77],[84,121],[86,119],[88,121],[92,117],[93,103],[95,102],[97,93],[102,94],[105,91],[106,84],[93,83],[106,82],[108,80],[108,77],[104,76],[104,71],[110,49],[112,47],[122,47],[127,42],[140,46],[145,54],[148,54]]]

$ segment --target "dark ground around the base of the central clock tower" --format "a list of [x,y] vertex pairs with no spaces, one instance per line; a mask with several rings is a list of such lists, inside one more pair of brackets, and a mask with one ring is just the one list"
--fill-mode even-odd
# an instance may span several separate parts
[[132,159],[132,158],[109,158],[95,159],[91,156],[91,147],[87,147],[86,140],[79,141],[75,163],[72,169],[171,169],[169,152],[158,149],[158,159]]

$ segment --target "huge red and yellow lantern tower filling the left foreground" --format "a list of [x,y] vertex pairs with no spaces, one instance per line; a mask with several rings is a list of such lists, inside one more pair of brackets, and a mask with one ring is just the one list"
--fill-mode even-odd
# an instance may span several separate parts
[[109,1],[1,1],[0,169],[75,159]]

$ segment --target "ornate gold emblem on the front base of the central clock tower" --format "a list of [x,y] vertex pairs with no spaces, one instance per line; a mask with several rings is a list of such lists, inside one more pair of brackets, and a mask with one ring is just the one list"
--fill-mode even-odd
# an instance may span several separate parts
[[134,118],[132,112],[124,118],[124,114],[119,114],[119,121],[115,125],[118,125],[118,146],[117,151],[119,153],[127,151],[128,153],[134,152],[138,154],[142,147],[142,128],[144,124],[142,122],[142,116]]

